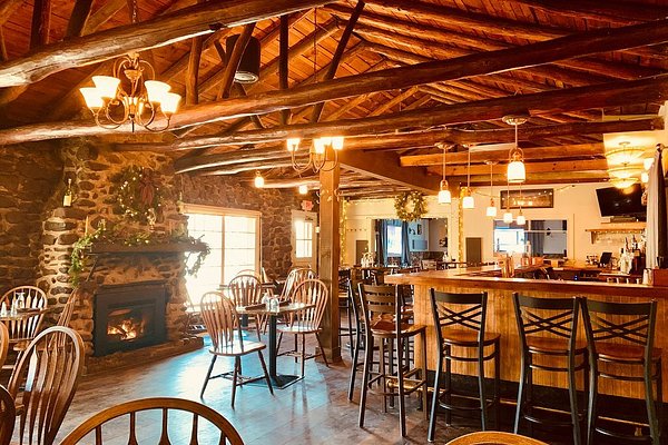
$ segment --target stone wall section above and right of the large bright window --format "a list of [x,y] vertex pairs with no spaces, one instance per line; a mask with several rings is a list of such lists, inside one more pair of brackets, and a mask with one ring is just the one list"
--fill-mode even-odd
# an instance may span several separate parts
[[262,212],[262,266],[273,277],[284,277],[292,266],[292,210],[299,208],[294,189],[257,189],[252,181],[227,176],[175,178],[187,204]]

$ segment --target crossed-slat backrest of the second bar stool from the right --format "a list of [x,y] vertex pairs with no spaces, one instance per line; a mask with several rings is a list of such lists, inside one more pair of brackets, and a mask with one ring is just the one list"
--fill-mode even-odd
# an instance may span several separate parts
[[527,336],[560,337],[574,350],[578,334],[579,298],[537,298],[512,294],[522,349],[527,350]]

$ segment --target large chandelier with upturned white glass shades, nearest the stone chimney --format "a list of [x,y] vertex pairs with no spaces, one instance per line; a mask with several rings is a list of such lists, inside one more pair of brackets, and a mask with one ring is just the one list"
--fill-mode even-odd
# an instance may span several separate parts
[[[114,76],[94,76],[92,82],[95,87],[79,90],[96,123],[107,129],[130,123],[132,132],[136,126],[163,131],[169,127],[180,101],[179,95],[169,92],[169,85],[155,80],[153,66],[137,52],[118,59]],[[156,119],[163,125],[151,126]]]

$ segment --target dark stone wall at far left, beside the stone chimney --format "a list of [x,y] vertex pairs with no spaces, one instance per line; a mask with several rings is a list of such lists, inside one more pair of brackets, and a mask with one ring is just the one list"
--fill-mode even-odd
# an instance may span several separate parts
[[62,161],[55,152],[42,145],[0,149],[2,294],[37,280],[45,207],[55,190],[65,188]]

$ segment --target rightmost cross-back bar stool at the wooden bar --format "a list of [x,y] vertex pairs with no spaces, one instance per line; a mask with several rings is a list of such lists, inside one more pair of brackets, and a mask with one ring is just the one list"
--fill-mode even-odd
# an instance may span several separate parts
[[[582,305],[584,330],[589,342],[589,360],[591,362],[587,443],[591,444],[595,434],[599,433],[608,437],[625,439],[625,443],[649,439],[652,445],[659,445],[662,443],[660,433],[664,395],[661,390],[662,350],[654,347],[657,301],[607,303],[583,299]],[[642,367],[642,375],[637,372],[638,366]],[[645,384],[649,437],[647,435],[622,435],[598,425],[599,377]],[[657,386],[656,397],[652,383]]]

